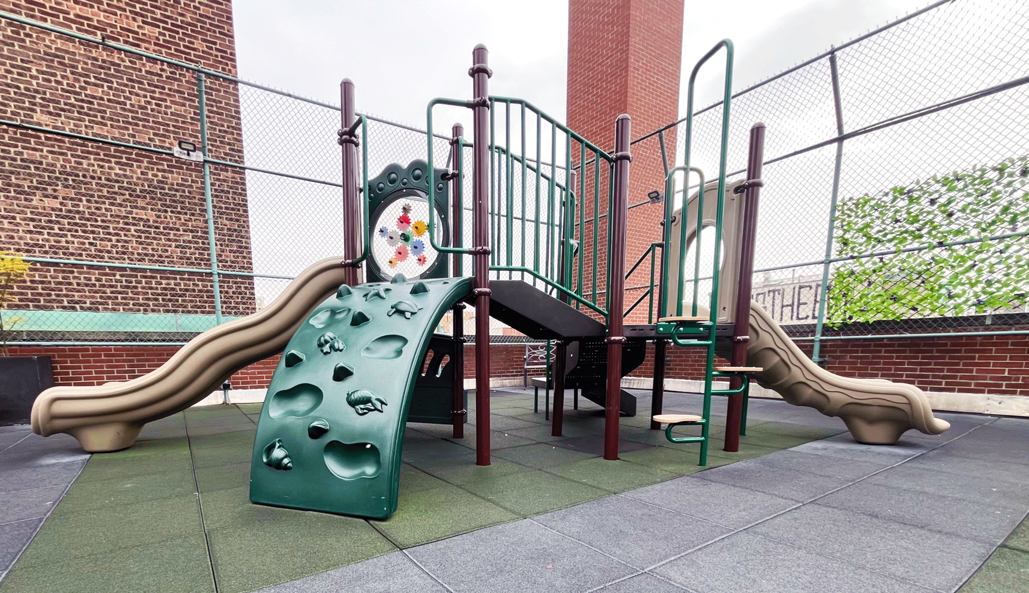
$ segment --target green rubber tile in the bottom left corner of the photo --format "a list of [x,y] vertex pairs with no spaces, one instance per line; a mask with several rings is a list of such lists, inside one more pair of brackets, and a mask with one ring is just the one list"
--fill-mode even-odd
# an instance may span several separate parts
[[2,593],[205,593],[214,591],[203,534],[25,566],[0,583]]

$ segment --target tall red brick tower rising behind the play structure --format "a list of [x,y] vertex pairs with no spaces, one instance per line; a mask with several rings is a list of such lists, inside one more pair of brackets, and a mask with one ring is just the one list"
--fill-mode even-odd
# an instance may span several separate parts
[[[568,126],[605,149],[613,149],[614,119],[632,116],[633,137],[655,130],[678,118],[679,71],[682,49],[682,0],[573,0],[568,13]],[[674,158],[675,131],[665,137],[669,159]],[[665,173],[657,138],[633,146],[629,178],[629,203],[646,199],[652,189],[664,190]],[[592,182],[588,173],[588,187]],[[606,181],[606,178],[602,181]],[[593,204],[584,204],[586,217]],[[600,213],[607,211],[601,201]],[[661,238],[660,206],[630,211],[625,253],[627,270]],[[586,238],[592,237],[588,228]],[[606,218],[600,236],[606,237]],[[589,269],[592,263],[584,266]],[[598,261],[598,278],[605,264]],[[641,266],[627,286],[649,282],[649,263]],[[599,283],[599,281],[598,281]],[[584,282],[589,287],[589,282]],[[605,286],[598,286],[603,289]],[[641,290],[626,294],[626,306]],[[628,322],[645,322],[641,306]]]

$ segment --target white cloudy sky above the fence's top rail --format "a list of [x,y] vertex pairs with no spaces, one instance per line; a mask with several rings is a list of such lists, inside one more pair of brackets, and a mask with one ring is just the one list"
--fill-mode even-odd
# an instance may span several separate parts
[[[682,62],[688,68],[730,37],[742,89],[928,3],[686,0]],[[424,127],[431,98],[469,96],[471,48],[485,43],[491,94],[564,118],[567,2],[235,0],[234,10],[240,74],[249,80],[338,103],[339,81],[350,77],[359,110]]]

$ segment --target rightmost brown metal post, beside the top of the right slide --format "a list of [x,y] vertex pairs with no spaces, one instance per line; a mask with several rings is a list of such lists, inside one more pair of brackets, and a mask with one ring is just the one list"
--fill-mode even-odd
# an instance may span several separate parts
[[[743,191],[743,223],[740,225],[740,276],[737,281],[736,319],[733,323],[733,367],[747,364],[747,342],[750,334],[751,281],[754,275],[754,239],[757,235],[757,205],[761,191],[761,163],[765,159],[765,124],[750,128],[747,150],[747,180]],[[730,387],[739,388],[741,379],[733,378]],[[743,418],[743,393],[729,396],[725,412],[725,443],[723,451],[740,450],[740,422]]]

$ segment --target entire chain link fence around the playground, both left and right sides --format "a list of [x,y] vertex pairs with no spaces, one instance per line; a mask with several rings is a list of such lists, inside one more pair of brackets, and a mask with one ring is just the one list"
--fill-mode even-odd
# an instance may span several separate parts
[[[8,16],[4,34],[30,59],[94,72],[75,84],[7,75],[22,95],[0,110],[9,199],[0,222],[10,237],[0,248],[33,264],[4,313],[15,319],[4,324],[8,343],[182,343],[343,252],[350,213],[340,200],[338,106]],[[768,126],[754,298],[794,338],[1029,325],[1027,28],[1029,6],[1018,0],[937,2],[737,93],[730,180],[742,176],[749,127]],[[47,55],[58,45],[60,58]],[[161,100],[141,105],[125,80]],[[718,104],[694,119],[691,164],[709,178],[720,121]],[[660,176],[662,164],[681,160],[684,124],[659,132],[634,144],[634,175],[647,167],[641,174]],[[448,167],[449,126],[435,133],[433,164]],[[372,176],[426,159],[423,130],[369,116],[367,135]],[[180,148],[189,143],[194,151]],[[506,164],[494,161],[493,195],[502,196]],[[563,166],[541,168],[565,182]],[[510,174],[517,193],[521,173]],[[463,195],[467,220],[470,176]],[[529,243],[521,222],[535,222],[533,207],[494,206],[516,221],[512,243]],[[634,206],[631,228],[633,216],[660,219],[650,212],[660,206]],[[548,216],[544,208],[544,226]],[[507,240],[502,226],[494,240]],[[644,294],[649,269],[627,282],[627,306]],[[655,306],[644,299],[632,320]]]

